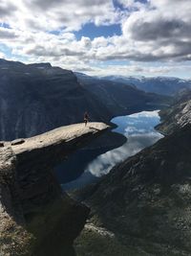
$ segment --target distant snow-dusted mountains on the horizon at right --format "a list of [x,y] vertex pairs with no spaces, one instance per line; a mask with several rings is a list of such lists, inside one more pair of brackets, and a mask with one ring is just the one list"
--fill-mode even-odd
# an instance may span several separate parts
[[107,76],[102,79],[109,81],[117,81],[122,82],[124,84],[132,84],[138,87],[138,89],[153,92],[157,94],[163,95],[175,95],[180,90],[185,88],[191,88],[190,80],[182,80],[179,78],[171,78],[171,77],[153,77],[153,78],[145,78],[145,77],[123,77],[123,76]]

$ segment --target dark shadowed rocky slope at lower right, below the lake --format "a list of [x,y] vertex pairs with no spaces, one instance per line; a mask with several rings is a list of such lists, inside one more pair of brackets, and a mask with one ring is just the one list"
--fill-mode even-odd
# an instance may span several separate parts
[[[82,232],[78,255],[98,255],[98,244],[104,256],[191,255],[190,141],[187,125],[81,193],[91,206],[90,224],[96,228]],[[113,237],[101,235],[102,229]]]

